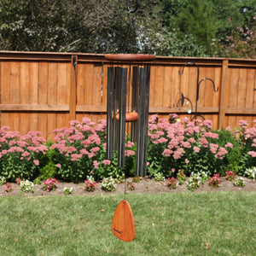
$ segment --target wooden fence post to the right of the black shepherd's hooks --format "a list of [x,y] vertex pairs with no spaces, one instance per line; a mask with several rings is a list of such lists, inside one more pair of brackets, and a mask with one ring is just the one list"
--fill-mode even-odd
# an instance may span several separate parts
[[220,84],[220,92],[219,92],[218,129],[221,129],[222,127],[224,127],[225,108],[226,108],[225,92],[227,90],[228,69],[229,69],[229,60],[224,60],[222,62],[221,84]]

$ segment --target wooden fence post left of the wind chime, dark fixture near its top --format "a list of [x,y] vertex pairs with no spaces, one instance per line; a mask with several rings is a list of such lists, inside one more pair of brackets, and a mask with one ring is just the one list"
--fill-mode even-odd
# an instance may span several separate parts
[[78,55],[71,56],[69,120],[76,119]]

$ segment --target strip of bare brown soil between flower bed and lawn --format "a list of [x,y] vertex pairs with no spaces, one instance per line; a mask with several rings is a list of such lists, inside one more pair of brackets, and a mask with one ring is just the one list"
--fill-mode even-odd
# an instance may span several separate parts
[[[224,177],[221,177],[221,186],[218,188],[212,188],[208,185],[208,183],[201,184],[199,189],[195,189],[195,193],[209,191],[256,191],[256,180],[249,179],[247,177],[243,177],[245,182],[245,187],[237,187],[232,182],[225,180]],[[131,182],[131,177],[127,178],[126,182]],[[135,189],[128,190],[126,193],[133,194],[133,193],[172,193],[172,192],[185,192],[189,191],[187,188],[186,183],[178,184],[177,189],[169,189],[167,187],[167,182],[162,181],[158,182],[154,179],[150,179],[148,177],[142,177],[139,182],[134,183]],[[3,193],[3,189],[5,185],[0,186],[0,196],[12,196],[12,195],[24,195],[24,196],[50,196],[50,195],[64,195],[63,190],[64,188],[73,188],[72,195],[117,195],[122,194],[125,192],[125,183],[117,184],[115,191],[113,192],[105,192],[101,189],[101,183],[98,183],[97,189],[93,192],[87,192],[84,190],[84,183],[59,183],[57,188],[49,193],[43,190],[43,183],[40,185],[34,186],[34,192],[27,192],[27,193],[20,193],[20,185],[16,183],[11,183],[12,191],[9,193]]]

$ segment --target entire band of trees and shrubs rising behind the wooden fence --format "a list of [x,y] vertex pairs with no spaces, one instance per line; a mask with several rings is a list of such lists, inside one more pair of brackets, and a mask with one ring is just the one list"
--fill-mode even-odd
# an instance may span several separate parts
[[137,14],[128,15],[126,1],[119,0],[2,0],[0,49],[227,56],[221,48],[212,49],[211,40],[230,36],[229,19],[244,29],[254,26],[249,24],[256,0],[139,2]]

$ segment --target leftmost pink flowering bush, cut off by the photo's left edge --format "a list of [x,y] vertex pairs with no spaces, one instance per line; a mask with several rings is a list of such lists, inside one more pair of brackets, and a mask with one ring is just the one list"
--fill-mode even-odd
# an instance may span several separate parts
[[9,127],[0,129],[0,175],[7,181],[15,178],[33,179],[38,176],[40,162],[48,151],[46,140],[39,131],[21,136]]

